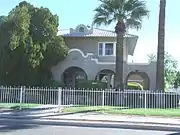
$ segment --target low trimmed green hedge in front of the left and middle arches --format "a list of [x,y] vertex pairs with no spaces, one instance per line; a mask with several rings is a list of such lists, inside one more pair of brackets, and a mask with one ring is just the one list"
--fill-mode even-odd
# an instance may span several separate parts
[[93,80],[79,81],[76,87],[85,89],[105,89],[107,88],[107,83]]

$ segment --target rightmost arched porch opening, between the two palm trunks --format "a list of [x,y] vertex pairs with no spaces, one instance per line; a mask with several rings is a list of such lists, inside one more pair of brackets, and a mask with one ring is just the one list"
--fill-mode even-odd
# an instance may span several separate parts
[[143,86],[144,90],[149,90],[150,79],[146,72],[132,71],[126,77],[126,86],[128,82],[137,82]]

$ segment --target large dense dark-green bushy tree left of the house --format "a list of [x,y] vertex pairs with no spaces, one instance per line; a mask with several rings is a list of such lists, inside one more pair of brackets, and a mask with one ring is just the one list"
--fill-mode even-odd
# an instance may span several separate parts
[[48,8],[25,1],[13,8],[0,25],[0,81],[11,85],[46,85],[51,67],[68,48],[57,36],[59,20]]

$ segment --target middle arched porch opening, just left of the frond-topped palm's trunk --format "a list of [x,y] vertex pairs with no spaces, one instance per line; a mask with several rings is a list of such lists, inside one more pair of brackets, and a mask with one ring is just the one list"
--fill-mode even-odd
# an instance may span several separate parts
[[106,82],[108,88],[114,87],[114,71],[109,69],[103,69],[96,75],[95,80]]

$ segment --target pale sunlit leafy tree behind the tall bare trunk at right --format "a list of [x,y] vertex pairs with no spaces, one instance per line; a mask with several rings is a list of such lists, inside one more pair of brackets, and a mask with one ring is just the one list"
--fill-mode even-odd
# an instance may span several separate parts
[[[149,57],[149,62],[157,61],[157,56],[154,54],[150,54],[148,55],[148,57]],[[170,54],[166,52],[164,59],[164,70],[165,70],[164,80],[166,84],[164,85],[174,85],[175,80],[177,78],[176,76],[178,75],[177,67],[178,67],[177,60],[175,60]]]

